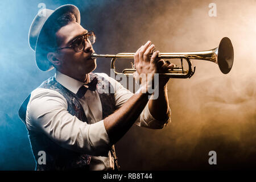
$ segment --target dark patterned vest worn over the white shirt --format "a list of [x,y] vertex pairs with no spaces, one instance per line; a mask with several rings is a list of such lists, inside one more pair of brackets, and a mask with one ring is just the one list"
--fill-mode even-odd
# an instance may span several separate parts
[[[102,105],[102,119],[108,117],[115,110],[115,100],[114,93],[110,92],[113,89],[112,84],[105,80],[104,77],[96,75],[95,73],[90,73],[90,80],[94,77],[98,78],[97,92],[101,100]],[[106,91],[105,86],[108,86],[108,91]],[[68,103],[68,112],[75,115],[78,119],[83,122],[88,122],[84,109],[79,102],[76,94],[69,91],[67,88],[59,84],[54,77],[48,78],[44,81],[39,88],[46,88],[51,90],[56,90]],[[23,102],[19,109],[19,116],[26,123],[26,110],[27,104],[30,100],[30,96]],[[28,137],[30,139],[32,152],[36,161],[36,170],[88,170],[90,164],[90,156],[86,154],[81,154],[79,152],[71,151],[66,148],[59,146],[51,139],[47,137],[44,133],[39,133],[38,131],[28,130]],[[46,151],[46,164],[39,164],[38,159],[39,151]],[[115,169],[118,167],[117,157],[115,155],[114,146],[110,148],[115,161]]]

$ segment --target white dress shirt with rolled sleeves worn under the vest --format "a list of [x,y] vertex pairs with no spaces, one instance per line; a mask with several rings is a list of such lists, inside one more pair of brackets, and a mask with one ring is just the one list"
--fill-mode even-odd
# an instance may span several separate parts
[[[104,77],[113,85],[117,108],[133,96],[133,93],[105,73],[96,74]],[[55,78],[73,93],[77,93],[84,84],[58,71],[56,71]],[[85,96],[79,101],[88,123],[68,113],[67,101],[59,92],[44,88],[33,90],[27,105],[27,128],[45,133],[53,142],[64,148],[91,155],[90,170],[113,169],[114,159],[109,151],[110,142],[102,119],[102,106],[98,92],[87,90]],[[169,110],[168,115],[170,112]],[[168,121],[156,121],[146,105],[135,124],[151,129],[161,129],[168,122],[170,118]]]

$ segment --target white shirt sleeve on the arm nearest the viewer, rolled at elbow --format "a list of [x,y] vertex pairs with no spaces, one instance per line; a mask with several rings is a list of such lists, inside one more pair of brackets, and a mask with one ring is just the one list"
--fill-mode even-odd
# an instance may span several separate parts
[[28,129],[46,134],[69,150],[107,156],[111,146],[103,120],[89,125],[69,114],[67,108],[67,101],[55,90],[34,90],[27,106]]

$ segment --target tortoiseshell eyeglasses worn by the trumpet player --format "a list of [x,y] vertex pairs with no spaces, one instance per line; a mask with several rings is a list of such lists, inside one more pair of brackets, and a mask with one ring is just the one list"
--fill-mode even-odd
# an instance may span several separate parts
[[76,51],[76,52],[81,52],[82,50],[84,50],[84,47],[85,47],[85,40],[86,40],[89,44],[92,45],[92,44],[95,43],[96,35],[94,34],[93,31],[89,31],[89,32],[87,32],[86,34],[81,35],[81,36],[75,38],[75,39],[72,41],[71,46],[62,47],[62,48],[57,48],[56,51],[57,51],[57,50],[61,50],[61,49],[73,48],[74,51]]

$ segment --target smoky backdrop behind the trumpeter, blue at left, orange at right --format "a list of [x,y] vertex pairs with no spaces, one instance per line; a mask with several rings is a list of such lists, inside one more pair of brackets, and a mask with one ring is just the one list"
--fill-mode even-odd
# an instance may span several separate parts
[[[72,3],[81,24],[96,32],[97,53],[135,52],[151,40],[160,52],[200,51],[228,36],[234,65],[228,75],[196,60],[190,79],[168,82],[172,122],[163,130],[133,126],[116,145],[123,170],[255,169],[256,2],[251,1],[1,1],[0,170],[33,170],[27,130],[18,118],[24,98],[54,74],[36,67],[28,30],[40,7]],[[209,3],[217,16],[210,17]],[[110,74],[110,60],[96,72]],[[208,152],[217,152],[217,165]]]

